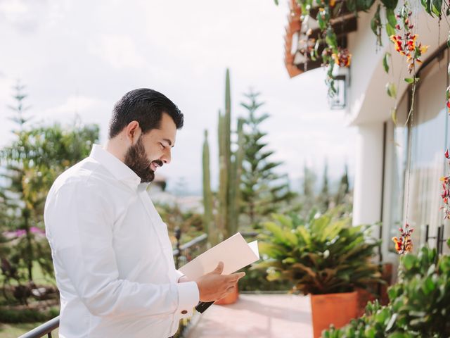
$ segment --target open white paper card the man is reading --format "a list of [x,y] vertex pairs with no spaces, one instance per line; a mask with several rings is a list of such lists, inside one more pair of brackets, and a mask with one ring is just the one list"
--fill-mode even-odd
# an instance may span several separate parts
[[194,258],[179,270],[194,280],[210,273],[219,262],[224,262],[223,275],[229,275],[259,259],[258,242],[248,244],[238,232]]

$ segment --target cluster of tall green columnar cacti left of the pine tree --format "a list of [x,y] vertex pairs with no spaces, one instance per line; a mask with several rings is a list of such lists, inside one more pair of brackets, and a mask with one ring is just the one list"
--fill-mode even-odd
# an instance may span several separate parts
[[231,91],[230,73],[226,70],[225,82],[225,112],[219,111],[217,138],[219,142],[219,191],[217,192],[217,212],[215,213],[215,230],[212,229],[213,206],[208,196],[211,191],[209,180],[209,147],[207,146],[207,132],[203,146],[203,204],[205,206],[205,229],[208,231],[211,244],[217,244],[233,235],[238,230],[238,216],[240,204],[240,176],[242,175],[243,151],[243,123],[238,120],[238,148],[231,151]]

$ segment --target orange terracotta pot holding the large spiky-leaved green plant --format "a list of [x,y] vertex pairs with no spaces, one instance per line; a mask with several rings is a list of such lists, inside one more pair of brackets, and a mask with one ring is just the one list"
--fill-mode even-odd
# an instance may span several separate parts
[[314,338],[319,338],[322,331],[328,329],[330,324],[342,327],[347,325],[352,318],[356,318],[358,292],[312,294],[311,311]]

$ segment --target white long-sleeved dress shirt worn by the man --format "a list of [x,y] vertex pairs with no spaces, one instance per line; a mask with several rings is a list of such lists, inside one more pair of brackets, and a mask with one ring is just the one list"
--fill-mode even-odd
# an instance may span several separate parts
[[148,184],[94,145],[56,179],[44,219],[60,291],[60,337],[167,338],[199,300],[178,283]]

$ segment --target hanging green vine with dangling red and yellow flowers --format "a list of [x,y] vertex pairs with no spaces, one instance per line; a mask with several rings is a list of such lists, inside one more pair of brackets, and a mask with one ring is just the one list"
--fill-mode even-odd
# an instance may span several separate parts
[[[278,4],[278,1],[276,4]],[[319,24],[320,38],[309,38],[311,30],[308,30],[307,37],[309,41],[306,43],[307,49],[304,49],[304,56],[316,61],[319,57],[322,58],[322,65],[327,68],[326,71],[326,84],[328,87],[328,96],[334,96],[336,94],[335,89],[335,77],[333,70],[335,65],[339,67],[349,67],[352,61],[352,54],[347,48],[342,46],[338,41],[338,37],[332,25],[333,18],[337,18],[343,6],[351,13],[355,15],[359,11],[368,11],[375,5],[375,0],[296,0],[299,4],[302,14],[301,21],[307,22],[311,15],[311,8],[319,6],[315,20]],[[378,0],[376,4],[376,11],[371,20],[371,30],[376,37],[375,49],[380,49],[383,46],[383,28],[386,30],[387,36],[390,37],[395,51],[406,58],[408,77],[404,77],[404,81],[411,85],[411,107],[406,118],[406,124],[409,123],[411,118],[410,127],[413,125],[413,109],[414,98],[416,95],[416,85],[419,81],[417,77],[416,65],[422,63],[423,54],[428,50],[428,46],[418,42],[418,35],[414,32],[416,23],[413,23],[413,15],[411,6],[407,0],[404,0],[403,4],[399,7],[397,14],[395,8],[397,8],[398,0]],[[420,5],[425,8],[425,11],[433,18],[436,16],[439,20],[439,34],[440,34],[440,22],[443,14],[445,20],[448,22],[446,16],[450,15],[450,0],[420,0]],[[450,26],[450,23],[449,23]],[[309,34],[308,34],[309,33]],[[439,38],[439,37],[438,37]],[[314,46],[314,47],[313,47]],[[323,46],[321,55],[319,56],[319,49]],[[450,32],[447,39],[447,46],[450,49]],[[308,55],[309,54],[309,55]],[[391,65],[390,65],[391,64]],[[387,51],[383,56],[383,68],[387,74],[391,74],[393,77],[392,69],[392,55],[390,51]],[[397,82],[399,85],[401,79],[401,73]],[[448,74],[450,77],[450,64],[448,66]],[[397,124],[397,86],[394,84],[394,79],[386,84],[387,95],[394,99],[395,104],[391,111],[392,120],[394,124]],[[446,107],[448,113],[450,113],[450,86],[446,89]],[[445,153],[446,159],[449,160],[449,151]],[[409,156],[411,161],[411,156]],[[450,168],[450,161],[449,161]],[[408,184],[409,175],[411,172],[411,162],[409,162],[408,168]],[[450,170],[449,174],[441,178],[442,180],[442,199],[444,206],[444,218],[450,219]],[[408,197],[409,199],[409,192]],[[406,202],[406,206],[408,201]],[[392,240],[395,243],[397,252],[406,253],[412,249],[411,234],[413,229],[408,224],[408,208],[406,207],[406,218],[404,226],[400,228],[400,236],[393,237]]]

